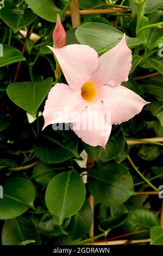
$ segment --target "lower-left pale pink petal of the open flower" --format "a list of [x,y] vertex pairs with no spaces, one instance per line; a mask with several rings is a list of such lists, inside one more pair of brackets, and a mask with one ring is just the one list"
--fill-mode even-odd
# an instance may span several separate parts
[[64,83],[57,83],[50,90],[43,111],[45,125],[54,123],[73,123],[86,106],[79,92]]

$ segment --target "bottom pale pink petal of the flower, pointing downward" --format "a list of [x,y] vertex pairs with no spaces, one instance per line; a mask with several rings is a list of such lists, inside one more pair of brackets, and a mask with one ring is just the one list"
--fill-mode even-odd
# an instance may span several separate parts
[[85,143],[93,147],[105,148],[110,136],[111,125],[106,121],[102,103],[99,109],[92,109],[88,106],[74,122],[73,130]]

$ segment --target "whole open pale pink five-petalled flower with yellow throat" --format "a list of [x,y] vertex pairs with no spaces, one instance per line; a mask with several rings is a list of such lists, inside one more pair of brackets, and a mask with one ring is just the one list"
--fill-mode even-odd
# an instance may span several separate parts
[[[125,35],[99,58],[87,45],[49,48],[57,57],[69,86],[57,83],[49,92],[43,111],[43,129],[49,124],[73,123],[74,132],[85,143],[105,148],[111,125],[128,121],[148,103],[121,86],[122,82],[128,81],[132,59]],[[65,108],[69,113],[78,111],[78,114],[64,115]],[[99,129],[89,129],[85,123],[95,112],[95,126],[99,127],[99,122],[101,125]],[[97,114],[101,112],[104,114],[99,119]]]

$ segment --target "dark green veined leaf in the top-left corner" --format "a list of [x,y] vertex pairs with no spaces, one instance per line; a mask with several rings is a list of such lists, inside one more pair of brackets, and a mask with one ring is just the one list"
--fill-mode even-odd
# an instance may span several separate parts
[[36,19],[36,14],[30,8],[24,9],[24,1],[16,1],[16,5],[9,2],[1,9],[1,19],[17,33]]

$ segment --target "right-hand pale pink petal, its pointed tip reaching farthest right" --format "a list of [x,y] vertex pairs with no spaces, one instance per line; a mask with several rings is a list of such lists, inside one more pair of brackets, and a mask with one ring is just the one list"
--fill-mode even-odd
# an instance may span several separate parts
[[121,124],[139,114],[146,104],[138,94],[124,86],[103,86],[103,107],[111,124]]

